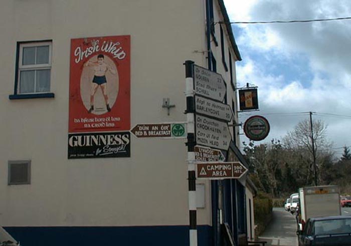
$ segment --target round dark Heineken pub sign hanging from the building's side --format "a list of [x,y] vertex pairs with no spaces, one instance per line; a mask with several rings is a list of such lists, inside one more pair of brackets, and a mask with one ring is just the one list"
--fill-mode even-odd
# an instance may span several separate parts
[[261,141],[268,136],[268,120],[259,115],[251,116],[245,121],[244,132],[249,139],[253,141]]

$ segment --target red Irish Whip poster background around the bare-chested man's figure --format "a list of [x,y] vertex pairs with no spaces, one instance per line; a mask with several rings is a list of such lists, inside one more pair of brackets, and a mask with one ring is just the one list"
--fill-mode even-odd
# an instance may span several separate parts
[[[108,112],[98,86],[94,95],[94,110],[89,113],[94,68],[88,61],[104,62],[116,71],[106,71]],[[130,130],[130,36],[95,37],[71,40],[69,132],[102,132]]]

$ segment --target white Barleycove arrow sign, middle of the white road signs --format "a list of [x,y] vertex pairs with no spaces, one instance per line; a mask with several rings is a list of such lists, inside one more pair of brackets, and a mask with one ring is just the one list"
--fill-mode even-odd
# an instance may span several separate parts
[[195,96],[195,112],[215,117],[217,119],[231,121],[233,117],[232,110],[228,104]]

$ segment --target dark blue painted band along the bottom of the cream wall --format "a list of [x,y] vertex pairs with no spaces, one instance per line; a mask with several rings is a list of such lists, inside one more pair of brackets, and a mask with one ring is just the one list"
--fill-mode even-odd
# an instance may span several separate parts
[[[189,245],[189,226],[4,227],[22,246]],[[198,245],[213,245],[212,226],[198,226]]]

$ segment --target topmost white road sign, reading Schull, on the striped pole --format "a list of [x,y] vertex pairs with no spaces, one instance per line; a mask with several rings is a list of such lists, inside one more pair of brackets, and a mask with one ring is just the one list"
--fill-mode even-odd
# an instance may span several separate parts
[[226,85],[222,75],[194,65],[195,93],[214,100],[223,101]]

